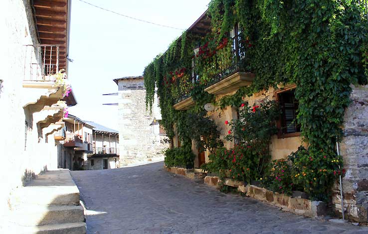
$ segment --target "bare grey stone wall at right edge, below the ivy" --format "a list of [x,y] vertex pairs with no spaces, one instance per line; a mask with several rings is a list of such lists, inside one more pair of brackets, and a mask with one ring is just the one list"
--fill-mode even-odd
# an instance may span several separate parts
[[[356,222],[368,222],[368,86],[352,86],[352,103],[345,110],[344,138],[340,154],[344,158],[343,178],[345,215]],[[339,184],[333,202],[341,214]]]

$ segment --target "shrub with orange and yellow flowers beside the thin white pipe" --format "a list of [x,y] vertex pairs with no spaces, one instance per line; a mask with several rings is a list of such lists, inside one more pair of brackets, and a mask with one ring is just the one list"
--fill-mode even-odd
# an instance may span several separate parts
[[312,200],[328,201],[331,187],[343,175],[343,160],[335,152],[299,147],[289,156],[293,163],[293,183],[303,188]]

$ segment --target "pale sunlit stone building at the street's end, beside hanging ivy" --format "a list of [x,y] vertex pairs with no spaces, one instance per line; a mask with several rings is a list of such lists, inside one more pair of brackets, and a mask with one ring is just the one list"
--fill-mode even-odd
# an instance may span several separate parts
[[[146,110],[146,90],[143,76],[123,77],[114,80],[119,90],[119,142],[120,163],[163,160],[161,119],[157,96],[152,114]],[[156,119],[157,121],[154,121]]]

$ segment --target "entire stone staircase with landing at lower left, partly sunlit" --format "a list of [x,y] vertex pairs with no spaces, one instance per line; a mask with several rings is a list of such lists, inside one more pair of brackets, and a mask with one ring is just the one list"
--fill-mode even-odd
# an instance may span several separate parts
[[8,233],[85,234],[79,190],[69,170],[48,171],[11,195]]

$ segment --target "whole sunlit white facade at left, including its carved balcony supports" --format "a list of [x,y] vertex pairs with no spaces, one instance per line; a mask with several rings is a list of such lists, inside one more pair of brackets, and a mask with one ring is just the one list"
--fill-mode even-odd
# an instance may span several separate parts
[[[45,80],[45,76],[39,75],[42,64],[40,60],[35,59],[39,52],[30,49],[35,48],[35,45],[46,44],[39,36],[40,32],[36,27],[34,11],[39,8],[30,0],[6,0],[2,3],[4,6],[0,9],[0,29],[3,32],[0,34],[1,213],[10,209],[9,198],[17,188],[48,169],[58,168],[57,155],[62,146],[55,139],[54,133],[63,127],[60,120],[66,107],[65,102],[64,104],[59,102],[63,99],[65,86],[56,84],[55,80]],[[65,17],[64,30],[60,32],[59,29],[59,34],[65,38],[63,49],[66,51],[69,40],[69,3],[68,0],[63,1],[63,7],[58,9],[59,17]],[[53,12],[53,7],[47,11],[51,16],[54,16]],[[44,27],[44,30],[51,34],[54,33],[53,29]],[[53,40],[48,42],[47,44],[54,43]],[[59,54],[60,69],[67,68],[66,54],[66,52]],[[52,61],[55,61],[55,57]],[[38,73],[32,74],[32,66],[39,69]],[[73,93],[70,96],[73,96]],[[66,101],[67,106],[76,105],[75,100],[69,101]]]

